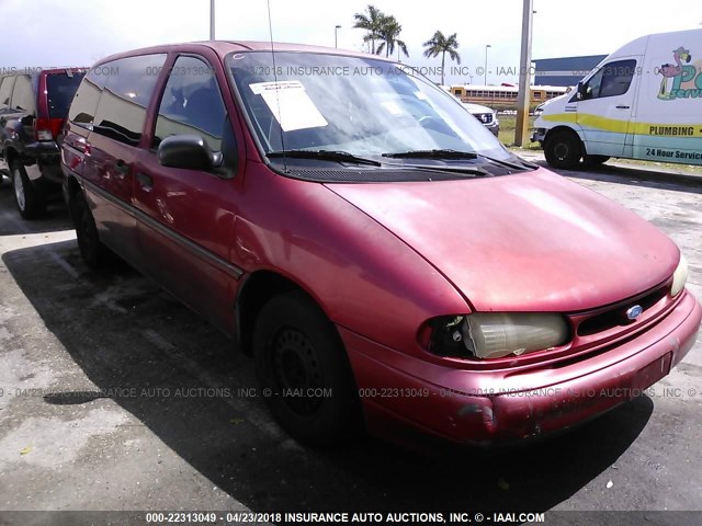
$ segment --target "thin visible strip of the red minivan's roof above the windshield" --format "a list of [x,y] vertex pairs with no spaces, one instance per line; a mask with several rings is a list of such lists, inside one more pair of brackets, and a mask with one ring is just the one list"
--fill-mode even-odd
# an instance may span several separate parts
[[[220,57],[225,57],[233,52],[270,52],[271,43],[263,41],[200,41],[200,42],[183,42],[179,44],[163,44],[160,46],[143,47],[139,49],[132,49],[124,53],[111,55],[109,57],[101,58],[97,64],[104,64],[118,58],[124,58],[133,55],[147,55],[150,53],[168,53],[176,49],[183,48],[210,48],[213,49]],[[305,44],[292,44],[284,42],[273,43],[273,49],[275,52],[298,52],[298,53],[324,53],[327,55],[339,55],[346,57],[365,57],[374,58],[376,60],[394,61],[392,58],[382,57],[378,55],[370,55],[367,53],[356,52],[352,49],[338,49],[335,47],[324,46],[310,46]]]

